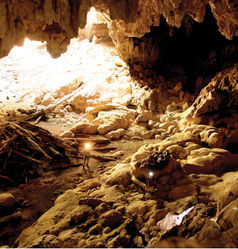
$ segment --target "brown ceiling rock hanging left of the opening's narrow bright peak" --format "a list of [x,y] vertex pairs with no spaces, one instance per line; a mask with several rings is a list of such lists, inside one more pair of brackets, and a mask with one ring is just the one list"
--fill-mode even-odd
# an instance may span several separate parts
[[78,28],[86,24],[88,1],[1,1],[0,55],[27,36],[47,41],[53,57],[65,52]]

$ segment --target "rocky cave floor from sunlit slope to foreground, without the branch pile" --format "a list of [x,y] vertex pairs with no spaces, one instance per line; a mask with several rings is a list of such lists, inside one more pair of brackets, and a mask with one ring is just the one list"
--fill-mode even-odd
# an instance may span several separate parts
[[[4,61],[13,88],[6,84],[0,92],[3,117],[24,116],[19,108],[43,109],[48,120],[32,124],[62,139],[108,143],[95,142],[89,169],[59,168],[28,179],[28,184],[3,185],[0,246],[237,247],[238,127],[237,113],[232,112],[237,107],[237,64],[218,73],[194,98],[181,82],[163,77],[160,87],[141,86],[113,47],[93,44],[106,57],[105,64],[102,58],[95,60],[92,44],[82,44],[87,63],[81,63],[81,55],[70,69],[58,66],[61,72],[75,72],[75,67],[81,74],[71,72],[72,81],[64,82],[56,72],[58,64],[46,66],[62,80],[50,88],[24,88],[17,81],[20,75]],[[45,71],[35,67],[38,72],[28,76],[31,81]],[[17,95],[17,87],[25,92]],[[227,115],[222,116],[224,103]],[[222,122],[225,127],[219,126]],[[148,182],[151,171],[153,183]],[[139,233],[128,226],[133,219]]]

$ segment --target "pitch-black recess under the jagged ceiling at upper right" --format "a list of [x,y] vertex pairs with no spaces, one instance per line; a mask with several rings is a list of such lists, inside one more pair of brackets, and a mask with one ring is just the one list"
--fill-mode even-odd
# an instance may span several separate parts
[[[159,27],[152,26],[150,33],[141,39],[133,38],[133,41],[137,46],[144,43],[143,46],[149,49],[143,58],[129,61],[132,74],[134,64],[140,64],[167,80],[182,80],[184,90],[190,92],[198,92],[217,72],[233,66],[238,60],[237,37],[230,41],[221,35],[210,6],[207,6],[202,23],[186,15],[181,28],[175,28],[161,17]],[[198,77],[201,77],[201,83],[195,88]]]

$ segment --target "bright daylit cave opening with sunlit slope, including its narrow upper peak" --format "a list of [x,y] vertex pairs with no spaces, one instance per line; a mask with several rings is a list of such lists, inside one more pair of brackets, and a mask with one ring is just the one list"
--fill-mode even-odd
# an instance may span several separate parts
[[102,15],[93,8],[85,29],[59,58],[50,56],[46,43],[26,38],[24,46],[15,46],[0,60],[0,114],[52,107],[44,127],[51,132],[84,120],[90,107],[123,104],[130,93],[128,68],[116,53]]

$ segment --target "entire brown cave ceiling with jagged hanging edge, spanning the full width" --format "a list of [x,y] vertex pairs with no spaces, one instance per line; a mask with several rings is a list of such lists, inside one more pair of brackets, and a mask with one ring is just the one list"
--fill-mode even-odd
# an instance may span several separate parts
[[131,38],[141,38],[151,26],[159,26],[161,16],[174,27],[182,25],[185,15],[202,22],[206,5],[211,7],[222,35],[227,39],[238,35],[237,1],[1,0],[0,57],[14,45],[21,45],[25,37],[47,41],[49,53],[60,56],[78,29],[84,28],[87,12],[94,6],[108,15],[113,42],[119,55],[128,61],[135,52]]

